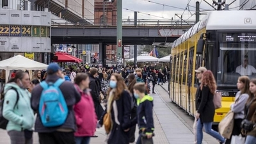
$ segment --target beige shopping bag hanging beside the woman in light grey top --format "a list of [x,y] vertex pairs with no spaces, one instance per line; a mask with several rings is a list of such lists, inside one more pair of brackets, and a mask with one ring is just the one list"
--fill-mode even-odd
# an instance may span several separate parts
[[230,139],[234,127],[234,112],[229,111],[218,125],[218,130],[224,138]]

